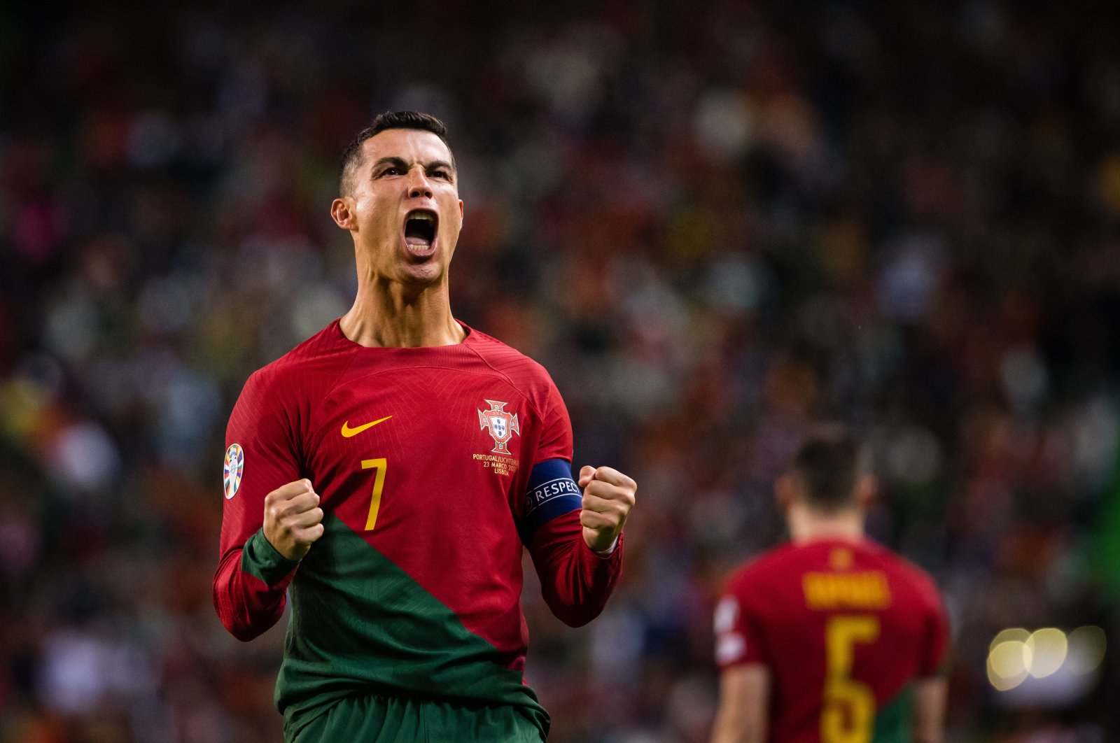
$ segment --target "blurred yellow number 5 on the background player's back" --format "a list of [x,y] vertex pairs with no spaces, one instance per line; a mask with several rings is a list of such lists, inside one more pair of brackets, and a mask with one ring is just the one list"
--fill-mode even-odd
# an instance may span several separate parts
[[822,743],[870,743],[875,725],[875,693],[851,678],[852,648],[879,637],[876,617],[833,617],[824,627],[827,677]]

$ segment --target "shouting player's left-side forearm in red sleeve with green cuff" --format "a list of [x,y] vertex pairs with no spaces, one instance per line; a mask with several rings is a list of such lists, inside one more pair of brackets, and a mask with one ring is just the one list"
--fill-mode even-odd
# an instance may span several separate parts
[[276,552],[261,532],[228,549],[214,574],[214,609],[225,629],[248,641],[276,624],[297,564]]

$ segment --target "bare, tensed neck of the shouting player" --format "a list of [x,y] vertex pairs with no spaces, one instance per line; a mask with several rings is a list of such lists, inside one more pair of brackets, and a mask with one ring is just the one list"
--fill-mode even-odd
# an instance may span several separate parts
[[342,317],[343,335],[360,346],[452,346],[467,333],[451,316],[447,282],[416,290],[400,282],[360,282],[354,307]]

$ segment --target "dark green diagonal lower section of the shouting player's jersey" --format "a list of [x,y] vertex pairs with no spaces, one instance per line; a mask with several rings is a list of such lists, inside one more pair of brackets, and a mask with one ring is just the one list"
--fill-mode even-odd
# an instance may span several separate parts
[[276,687],[290,734],[340,698],[402,694],[516,705],[547,734],[536,695],[494,646],[337,517],[323,524],[291,583]]

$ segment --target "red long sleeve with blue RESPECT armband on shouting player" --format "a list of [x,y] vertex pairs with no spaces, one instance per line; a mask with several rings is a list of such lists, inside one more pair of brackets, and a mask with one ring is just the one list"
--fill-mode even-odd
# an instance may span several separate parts
[[580,627],[599,615],[618,582],[623,540],[619,536],[606,556],[584,542],[582,493],[571,477],[571,421],[551,380],[547,403],[520,529],[549,609],[566,624]]

